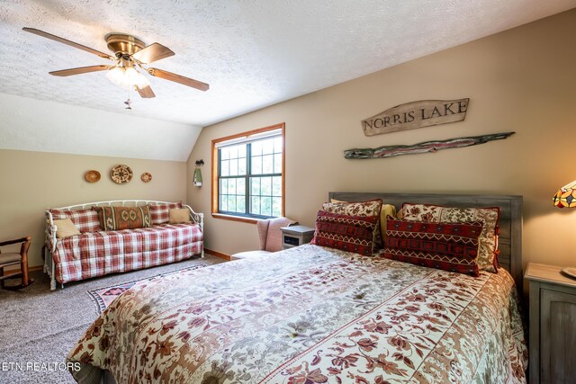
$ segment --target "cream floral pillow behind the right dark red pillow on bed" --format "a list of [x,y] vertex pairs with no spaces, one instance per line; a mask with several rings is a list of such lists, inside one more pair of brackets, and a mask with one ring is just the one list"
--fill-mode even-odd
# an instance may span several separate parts
[[478,265],[482,271],[498,272],[498,221],[500,208],[454,208],[432,204],[402,205],[402,216],[410,221],[428,221],[445,223],[482,222],[482,234],[479,237]]

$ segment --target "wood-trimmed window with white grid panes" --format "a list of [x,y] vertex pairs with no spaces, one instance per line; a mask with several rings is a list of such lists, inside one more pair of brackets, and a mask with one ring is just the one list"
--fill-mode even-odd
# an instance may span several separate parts
[[284,123],[212,141],[212,214],[284,216]]

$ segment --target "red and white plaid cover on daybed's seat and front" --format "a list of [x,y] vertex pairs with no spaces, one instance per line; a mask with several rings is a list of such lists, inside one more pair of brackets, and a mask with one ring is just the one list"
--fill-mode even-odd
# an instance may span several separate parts
[[197,224],[85,233],[58,241],[56,281],[65,283],[184,260],[202,253]]

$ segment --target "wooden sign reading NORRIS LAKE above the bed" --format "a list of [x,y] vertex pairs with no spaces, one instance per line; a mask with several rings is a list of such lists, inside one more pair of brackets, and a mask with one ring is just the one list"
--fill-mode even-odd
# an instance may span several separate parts
[[366,136],[463,121],[470,99],[422,100],[397,105],[363,120]]

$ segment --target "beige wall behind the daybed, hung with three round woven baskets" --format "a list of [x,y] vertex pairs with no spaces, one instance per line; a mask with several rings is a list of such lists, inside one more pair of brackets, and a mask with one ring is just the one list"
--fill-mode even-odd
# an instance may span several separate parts
[[[118,164],[132,169],[130,183],[110,179]],[[85,181],[91,169],[102,174],[99,182]],[[142,183],[144,172],[152,174],[151,182]],[[40,265],[46,208],[122,199],[184,201],[185,174],[185,162],[0,149],[0,239],[31,235],[29,263]]]

